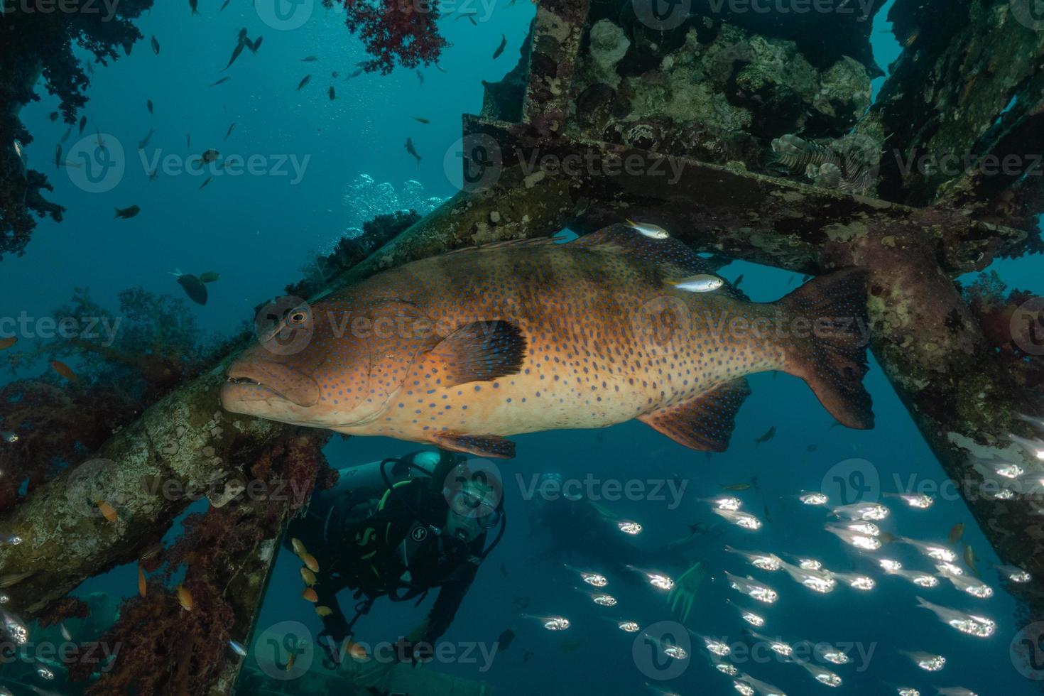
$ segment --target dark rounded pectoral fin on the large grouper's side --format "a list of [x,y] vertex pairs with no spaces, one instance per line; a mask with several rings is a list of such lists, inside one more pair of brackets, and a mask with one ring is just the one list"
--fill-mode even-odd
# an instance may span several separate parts
[[428,351],[420,367],[438,375],[444,387],[487,382],[520,373],[525,349],[525,336],[511,321],[472,321]]

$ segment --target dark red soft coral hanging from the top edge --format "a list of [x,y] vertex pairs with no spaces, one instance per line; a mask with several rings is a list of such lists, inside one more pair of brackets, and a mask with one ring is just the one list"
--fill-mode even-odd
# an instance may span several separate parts
[[388,74],[396,63],[406,68],[431,65],[448,43],[435,26],[440,11],[433,2],[407,0],[323,0],[323,6],[343,5],[345,23],[373,55],[362,64],[366,72]]

